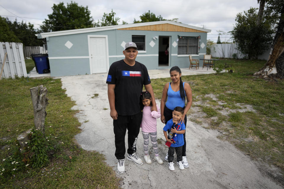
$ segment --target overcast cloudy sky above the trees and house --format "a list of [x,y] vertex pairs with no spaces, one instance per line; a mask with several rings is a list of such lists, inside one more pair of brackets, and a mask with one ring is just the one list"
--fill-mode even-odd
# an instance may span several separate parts
[[[30,22],[39,28],[47,15],[52,13],[53,4],[57,0],[0,0],[0,16],[8,17],[14,21]],[[63,1],[65,4],[71,1]],[[74,2],[74,1],[73,1]],[[218,30],[229,32],[235,24],[236,14],[247,11],[250,7],[259,8],[257,0],[140,0],[140,1],[114,1],[114,0],[77,0],[79,6],[88,6],[91,16],[97,22],[104,13],[111,10],[115,17],[133,23],[134,18],[140,20],[143,13],[153,12],[164,19],[178,18],[178,22],[196,27],[212,30],[207,39],[217,42]],[[229,41],[230,35],[221,35],[221,41]]]

